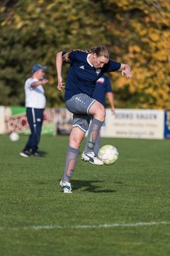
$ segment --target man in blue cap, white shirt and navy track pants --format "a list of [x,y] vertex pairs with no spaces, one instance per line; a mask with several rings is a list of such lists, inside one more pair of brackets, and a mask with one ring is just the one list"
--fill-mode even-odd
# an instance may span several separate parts
[[46,66],[40,64],[33,65],[31,78],[28,78],[25,83],[26,94],[26,115],[30,126],[30,136],[28,142],[21,151],[23,157],[42,156],[38,152],[38,144],[40,142],[40,134],[43,122],[43,112],[45,110],[45,92],[42,85],[45,85],[48,80],[43,78],[45,75]]

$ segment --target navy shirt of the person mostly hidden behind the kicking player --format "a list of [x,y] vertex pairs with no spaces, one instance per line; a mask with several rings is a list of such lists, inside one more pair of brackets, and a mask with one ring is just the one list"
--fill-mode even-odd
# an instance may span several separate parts
[[111,81],[106,75],[102,75],[102,77],[96,81],[96,87],[92,97],[106,107],[107,92],[113,92]]

